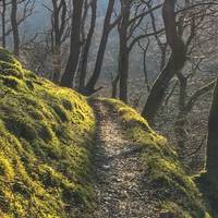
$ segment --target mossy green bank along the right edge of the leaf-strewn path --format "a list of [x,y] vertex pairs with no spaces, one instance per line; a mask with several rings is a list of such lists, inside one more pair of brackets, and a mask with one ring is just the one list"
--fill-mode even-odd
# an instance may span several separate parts
[[210,218],[195,178],[190,177],[189,170],[181,165],[173,146],[129,106],[114,99],[100,100],[118,112],[126,137],[143,147],[138,156],[145,169],[142,185],[154,191],[162,217]]

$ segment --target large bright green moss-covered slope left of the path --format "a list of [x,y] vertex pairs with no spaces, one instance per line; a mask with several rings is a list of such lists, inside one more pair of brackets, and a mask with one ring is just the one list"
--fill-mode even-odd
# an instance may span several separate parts
[[0,49],[0,217],[74,217],[88,206],[94,131],[83,96]]

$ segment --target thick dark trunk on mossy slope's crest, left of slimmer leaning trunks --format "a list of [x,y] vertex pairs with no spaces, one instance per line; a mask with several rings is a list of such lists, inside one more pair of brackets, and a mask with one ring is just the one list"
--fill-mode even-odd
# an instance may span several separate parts
[[80,51],[81,51],[81,20],[83,12],[83,1],[84,0],[73,0],[73,16],[72,16],[72,27],[71,27],[71,46],[70,56],[65,66],[65,71],[61,78],[61,85],[66,87],[72,87],[74,75],[76,72]]

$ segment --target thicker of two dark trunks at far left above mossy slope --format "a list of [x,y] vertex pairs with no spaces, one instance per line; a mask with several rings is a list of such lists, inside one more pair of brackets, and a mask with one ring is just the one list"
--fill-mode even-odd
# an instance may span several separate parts
[[20,55],[20,36],[19,36],[19,25],[16,21],[16,12],[17,12],[17,1],[11,1],[12,9],[11,9],[11,25],[13,32],[13,52],[15,56]]

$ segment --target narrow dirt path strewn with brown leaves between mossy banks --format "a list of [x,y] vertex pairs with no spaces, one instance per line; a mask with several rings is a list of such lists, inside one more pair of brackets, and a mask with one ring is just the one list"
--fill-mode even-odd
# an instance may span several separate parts
[[142,185],[138,145],[122,134],[118,116],[100,101],[92,106],[97,118],[95,218],[157,218],[158,205]]

